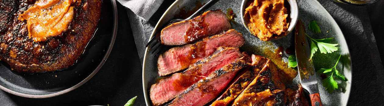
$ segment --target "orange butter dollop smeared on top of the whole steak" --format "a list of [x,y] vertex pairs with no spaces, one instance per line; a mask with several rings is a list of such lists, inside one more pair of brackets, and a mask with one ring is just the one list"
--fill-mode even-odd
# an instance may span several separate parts
[[[77,0],[79,1],[79,0]],[[76,0],[39,0],[20,14],[18,20],[27,20],[28,36],[35,42],[46,41],[68,30],[73,19]]]

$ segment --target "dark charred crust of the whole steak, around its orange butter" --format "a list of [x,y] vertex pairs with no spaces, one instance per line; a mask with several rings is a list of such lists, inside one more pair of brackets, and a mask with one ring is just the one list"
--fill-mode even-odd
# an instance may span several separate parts
[[[81,0],[81,3],[73,4],[75,13],[68,31],[51,37],[46,42],[33,42],[28,37],[26,21],[19,21],[17,17],[34,2],[0,1],[1,5],[7,5],[0,7],[0,15],[12,20],[0,21],[0,59],[7,62],[14,71],[27,74],[54,71],[73,65],[93,36],[101,12],[101,0]],[[3,12],[10,11],[10,7],[16,10],[15,14]]]

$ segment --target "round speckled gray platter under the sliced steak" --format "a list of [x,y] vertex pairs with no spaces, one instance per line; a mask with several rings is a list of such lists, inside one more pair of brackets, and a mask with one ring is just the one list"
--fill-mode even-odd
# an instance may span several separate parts
[[[201,3],[206,3],[209,0],[199,0]],[[308,27],[306,27],[307,34],[310,35],[314,39],[323,39],[334,37],[334,40],[331,43],[338,43],[339,47],[338,51],[334,53],[323,54],[319,51],[314,55],[314,67],[315,70],[319,70],[321,68],[331,68],[336,63],[339,55],[341,54],[341,59],[337,65],[338,71],[348,79],[348,81],[344,82],[338,79],[335,79],[339,84],[339,88],[336,89],[333,93],[329,94],[325,88],[322,86],[322,79],[318,75],[318,83],[319,83],[319,92],[321,96],[321,101],[324,106],[346,106],[349,98],[349,93],[351,91],[351,82],[352,82],[352,67],[351,67],[351,58],[349,55],[349,50],[347,43],[344,39],[344,35],[341,32],[339,26],[336,24],[334,19],[329,15],[329,13],[321,6],[319,2],[316,0],[298,0],[299,6],[299,18],[304,22],[307,26],[311,20],[315,20],[319,22],[319,26],[321,29],[320,34],[313,34],[309,31]],[[329,1],[332,2],[332,1]],[[196,0],[176,0],[168,10],[163,14],[160,21],[157,23],[154,32],[161,31],[167,22],[174,19],[174,14],[179,13],[179,8],[182,6],[186,6],[185,10],[195,8]],[[233,12],[236,13],[236,17],[234,18],[237,24],[232,24],[232,29],[240,32],[244,35],[247,43],[240,48],[242,51],[247,51],[248,53],[254,53],[258,55],[263,55],[262,51],[257,51],[257,48],[271,48],[276,49],[278,47],[288,48],[294,45],[294,38],[292,33],[288,34],[286,37],[274,41],[264,42],[259,40],[250,34],[245,27],[242,25],[241,16],[240,16],[240,6],[242,0],[220,0],[215,5],[213,5],[208,10],[217,10],[221,9],[224,12],[228,8],[232,8]],[[179,8],[178,8],[179,7]],[[166,8],[166,7],[163,7]],[[289,16],[288,16],[289,17]],[[153,36],[154,34],[152,34]],[[283,60],[285,62],[288,61],[288,54],[283,52],[282,54]],[[268,56],[267,56],[268,57]],[[147,106],[151,106],[151,99],[149,98],[149,89],[152,84],[155,84],[159,75],[157,75],[157,58],[154,57],[151,53],[148,53],[148,49],[144,55],[144,63],[143,63],[143,90],[144,96],[146,100]],[[295,88],[295,85],[300,83],[298,77],[293,79],[292,85],[287,85],[290,88]]]

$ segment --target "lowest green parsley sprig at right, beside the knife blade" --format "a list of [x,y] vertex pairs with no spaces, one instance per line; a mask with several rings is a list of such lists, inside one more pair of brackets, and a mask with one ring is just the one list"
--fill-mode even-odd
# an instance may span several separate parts
[[336,69],[336,66],[337,66],[337,63],[339,63],[340,57],[341,57],[341,55],[339,56],[339,59],[337,59],[336,64],[332,68],[320,69],[319,71],[317,71],[318,73],[321,73],[321,74],[324,73],[327,76],[329,76],[323,80],[323,86],[328,91],[328,93],[332,93],[333,90],[338,88],[337,82],[333,79],[334,74],[336,75],[337,78],[339,78],[343,81],[346,81],[344,75],[340,74],[339,71],[337,71],[337,69]]

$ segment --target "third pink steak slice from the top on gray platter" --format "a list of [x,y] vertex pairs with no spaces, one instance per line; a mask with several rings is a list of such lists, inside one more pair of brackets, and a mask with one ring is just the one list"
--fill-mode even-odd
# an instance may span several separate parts
[[184,92],[190,85],[242,56],[243,54],[236,48],[218,48],[215,53],[192,64],[186,71],[175,73],[152,85],[149,94],[152,104],[158,106],[172,100]]

